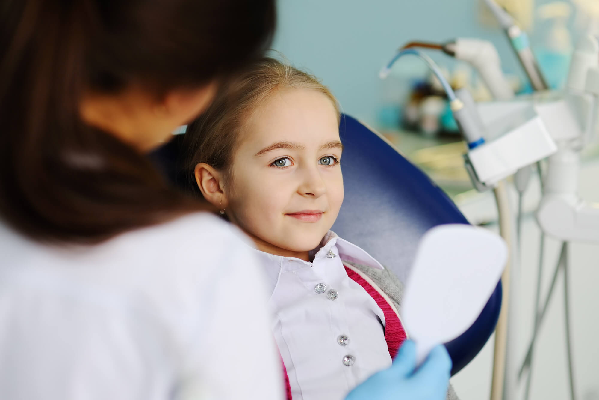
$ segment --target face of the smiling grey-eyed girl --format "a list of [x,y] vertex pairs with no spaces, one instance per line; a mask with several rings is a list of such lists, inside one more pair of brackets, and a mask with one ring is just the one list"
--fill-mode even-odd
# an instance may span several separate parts
[[225,187],[226,214],[262,251],[307,260],[343,202],[335,107],[315,90],[288,89],[244,128]]

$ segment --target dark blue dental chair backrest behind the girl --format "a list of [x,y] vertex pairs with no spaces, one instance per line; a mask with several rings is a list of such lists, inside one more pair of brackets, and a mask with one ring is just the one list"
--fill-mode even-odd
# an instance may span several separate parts
[[[332,227],[368,251],[406,281],[420,237],[435,225],[468,224],[447,195],[428,176],[356,119],[342,115],[345,199]],[[171,182],[189,188],[180,172],[177,136],[150,155]],[[495,330],[501,309],[501,282],[474,324],[445,344],[452,375],[467,365]]]

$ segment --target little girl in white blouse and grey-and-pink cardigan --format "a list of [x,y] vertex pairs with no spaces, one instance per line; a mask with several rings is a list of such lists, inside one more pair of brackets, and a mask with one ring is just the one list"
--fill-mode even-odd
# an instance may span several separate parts
[[294,400],[344,398],[406,339],[401,282],[329,230],[343,201],[339,118],[316,78],[265,58],[184,139],[197,188],[256,245]]

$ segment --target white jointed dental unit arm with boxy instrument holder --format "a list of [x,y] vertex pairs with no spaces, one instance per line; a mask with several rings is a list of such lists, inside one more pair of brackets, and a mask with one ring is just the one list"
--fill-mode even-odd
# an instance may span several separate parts
[[491,188],[516,169],[550,156],[537,222],[564,242],[599,242],[599,207],[577,194],[579,154],[594,140],[598,98],[599,43],[589,35],[574,52],[565,93],[537,92],[477,104],[483,125],[506,133],[493,140],[487,128],[485,145],[464,155],[474,187]]

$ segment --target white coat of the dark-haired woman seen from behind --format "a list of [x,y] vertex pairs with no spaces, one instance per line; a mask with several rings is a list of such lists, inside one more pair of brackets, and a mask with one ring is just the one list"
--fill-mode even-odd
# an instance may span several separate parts
[[86,247],[0,221],[0,399],[282,399],[245,240],[204,213]]

